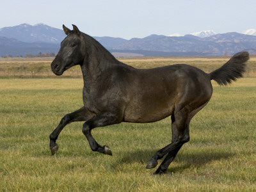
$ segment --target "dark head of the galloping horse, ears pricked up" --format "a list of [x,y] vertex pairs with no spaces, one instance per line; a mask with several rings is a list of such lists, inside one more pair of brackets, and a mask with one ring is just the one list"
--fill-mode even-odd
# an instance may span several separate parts
[[70,30],[63,25],[63,30],[67,36],[61,42],[60,51],[51,63],[52,72],[57,76],[61,76],[65,70],[74,65],[80,65],[84,60],[83,35],[77,26],[72,26],[73,30]]

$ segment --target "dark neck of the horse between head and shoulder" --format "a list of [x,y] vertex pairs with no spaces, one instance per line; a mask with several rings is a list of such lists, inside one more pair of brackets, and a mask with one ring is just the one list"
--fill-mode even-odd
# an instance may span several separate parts
[[[97,81],[97,78],[107,69],[120,65],[120,62],[91,36],[84,34],[85,56],[81,70],[84,84]],[[108,70],[109,72],[109,70]]]

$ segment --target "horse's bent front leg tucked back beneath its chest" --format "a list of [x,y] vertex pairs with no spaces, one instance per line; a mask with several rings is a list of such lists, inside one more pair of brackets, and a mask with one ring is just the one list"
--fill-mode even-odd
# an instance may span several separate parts
[[122,118],[120,118],[120,115],[108,112],[99,114],[84,123],[83,134],[84,136],[86,136],[88,143],[93,151],[112,156],[110,148],[106,145],[104,145],[103,147],[100,146],[99,143],[97,143],[97,141],[95,141],[95,139],[93,138],[91,131],[95,127],[104,127],[107,125],[119,124],[120,122],[122,122]]

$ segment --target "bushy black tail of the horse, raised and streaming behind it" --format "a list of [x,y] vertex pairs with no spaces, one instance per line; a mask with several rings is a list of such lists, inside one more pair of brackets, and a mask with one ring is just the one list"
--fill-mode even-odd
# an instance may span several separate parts
[[209,76],[211,80],[213,79],[220,85],[232,83],[232,81],[236,81],[237,78],[243,77],[246,61],[248,60],[248,52],[237,52],[237,54],[232,56],[232,58],[230,58],[225,65],[211,72]]

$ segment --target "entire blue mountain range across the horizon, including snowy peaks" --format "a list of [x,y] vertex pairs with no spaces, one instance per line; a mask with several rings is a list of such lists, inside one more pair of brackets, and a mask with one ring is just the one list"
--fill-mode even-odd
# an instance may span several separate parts
[[[86,31],[85,31],[86,32]],[[20,24],[0,29],[0,56],[38,54],[55,52],[65,38],[62,29],[45,24]],[[256,30],[248,29],[242,33],[218,34],[212,30],[189,35],[150,35],[145,38],[114,38],[94,36],[110,52],[129,53],[130,56],[212,56],[249,51],[256,54]]]

